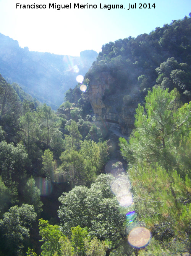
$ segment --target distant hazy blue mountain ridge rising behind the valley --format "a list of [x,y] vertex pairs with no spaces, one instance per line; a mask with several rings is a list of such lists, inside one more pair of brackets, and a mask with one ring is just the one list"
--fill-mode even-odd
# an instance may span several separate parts
[[29,51],[0,33],[2,76],[53,109],[62,104],[65,92],[75,87],[76,77],[86,74],[97,55],[93,50],[82,51],[80,57]]

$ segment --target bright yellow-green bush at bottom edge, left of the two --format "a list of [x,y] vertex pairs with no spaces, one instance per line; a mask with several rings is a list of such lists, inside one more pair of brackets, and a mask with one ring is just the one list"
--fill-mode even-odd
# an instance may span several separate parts
[[50,225],[47,220],[39,220],[39,234],[42,236],[42,256],[52,256],[54,253],[61,256],[61,246],[59,240],[61,239],[62,232],[60,231],[59,226]]

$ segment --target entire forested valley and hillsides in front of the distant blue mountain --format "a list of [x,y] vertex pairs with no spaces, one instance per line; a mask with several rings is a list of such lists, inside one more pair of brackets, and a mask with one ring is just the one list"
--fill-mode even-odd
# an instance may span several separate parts
[[104,45],[57,111],[0,75],[0,255],[191,255],[190,43]]

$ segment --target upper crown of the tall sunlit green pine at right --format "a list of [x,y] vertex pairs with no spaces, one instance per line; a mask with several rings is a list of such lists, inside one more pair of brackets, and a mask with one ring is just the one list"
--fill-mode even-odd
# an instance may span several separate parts
[[[177,91],[170,94],[168,89],[153,88],[146,96],[144,112],[140,104],[136,109],[136,130],[133,131],[129,144],[120,138],[122,155],[128,159],[129,165],[147,162],[160,162],[169,168],[175,164],[173,153],[173,135],[187,126],[190,116],[190,105],[182,107],[182,111],[172,111],[176,105]],[[184,112],[184,113],[183,113]]]

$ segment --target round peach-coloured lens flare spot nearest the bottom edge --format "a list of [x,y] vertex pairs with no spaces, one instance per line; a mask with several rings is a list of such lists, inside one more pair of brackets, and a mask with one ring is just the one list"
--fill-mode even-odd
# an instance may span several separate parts
[[131,230],[128,235],[128,242],[135,248],[145,247],[151,239],[151,232],[144,227],[137,227]]

